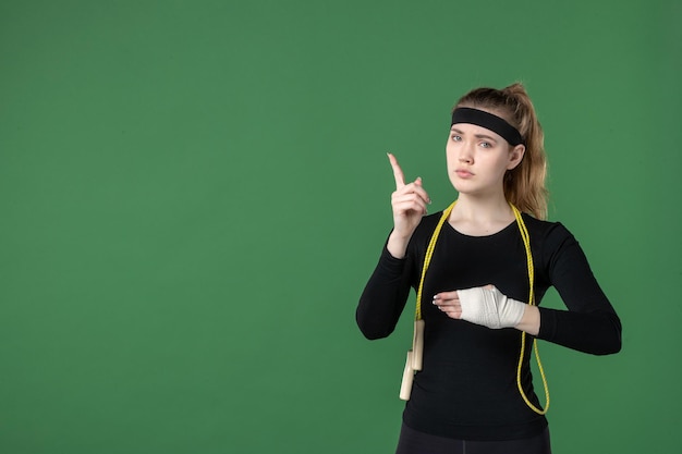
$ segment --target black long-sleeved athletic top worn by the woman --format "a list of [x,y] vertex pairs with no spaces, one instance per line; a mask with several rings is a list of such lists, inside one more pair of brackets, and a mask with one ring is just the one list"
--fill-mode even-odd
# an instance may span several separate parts
[[[356,311],[367,339],[386,338],[394,330],[410,287],[418,285],[426,247],[441,214],[422,220],[403,259],[383,247]],[[536,305],[553,285],[569,309],[540,307],[537,338],[595,355],[620,351],[620,319],[577,241],[560,223],[527,214],[523,219],[531,236]],[[517,390],[521,331],[454,320],[431,304],[439,292],[487,284],[511,298],[528,300],[526,255],[516,222],[488,236],[464,235],[446,222],[424,282],[424,365],[403,413],[409,427],[462,440],[513,440],[535,435],[547,426]],[[412,314],[414,306],[407,310]],[[539,407],[529,370],[532,342],[527,335],[522,383]]]

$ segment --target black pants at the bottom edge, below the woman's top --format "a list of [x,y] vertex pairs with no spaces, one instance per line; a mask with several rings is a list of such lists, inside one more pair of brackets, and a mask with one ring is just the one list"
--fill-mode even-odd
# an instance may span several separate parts
[[551,454],[549,429],[523,440],[465,441],[418,432],[403,424],[395,454]]

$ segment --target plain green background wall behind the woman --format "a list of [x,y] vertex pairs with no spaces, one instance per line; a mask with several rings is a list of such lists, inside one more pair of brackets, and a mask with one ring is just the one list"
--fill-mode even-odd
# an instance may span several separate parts
[[450,108],[515,81],[624,326],[540,345],[555,452],[675,451],[681,5],[0,1],[0,452],[393,452],[386,152],[441,209]]

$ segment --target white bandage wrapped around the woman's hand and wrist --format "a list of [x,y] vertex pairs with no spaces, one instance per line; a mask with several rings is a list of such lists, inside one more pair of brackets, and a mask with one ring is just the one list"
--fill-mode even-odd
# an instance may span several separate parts
[[492,285],[458,290],[462,319],[487,328],[513,328],[523,318],[526,304],[508,298]]

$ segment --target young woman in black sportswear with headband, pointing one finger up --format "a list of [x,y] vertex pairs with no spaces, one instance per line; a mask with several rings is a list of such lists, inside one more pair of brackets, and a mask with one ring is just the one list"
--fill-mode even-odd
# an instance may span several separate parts
[[[389,155],[394,225],[356,311],[367,339],[388,336],[417,291],[397,454],[550,453],[533,339],[612,354],[620,320],[577,241],[544,220],[544,136],[521,84],[462,97],[446,152],[459,198],[430,216],[422,179]],[[538,307],[550,285],[568,310]]]

